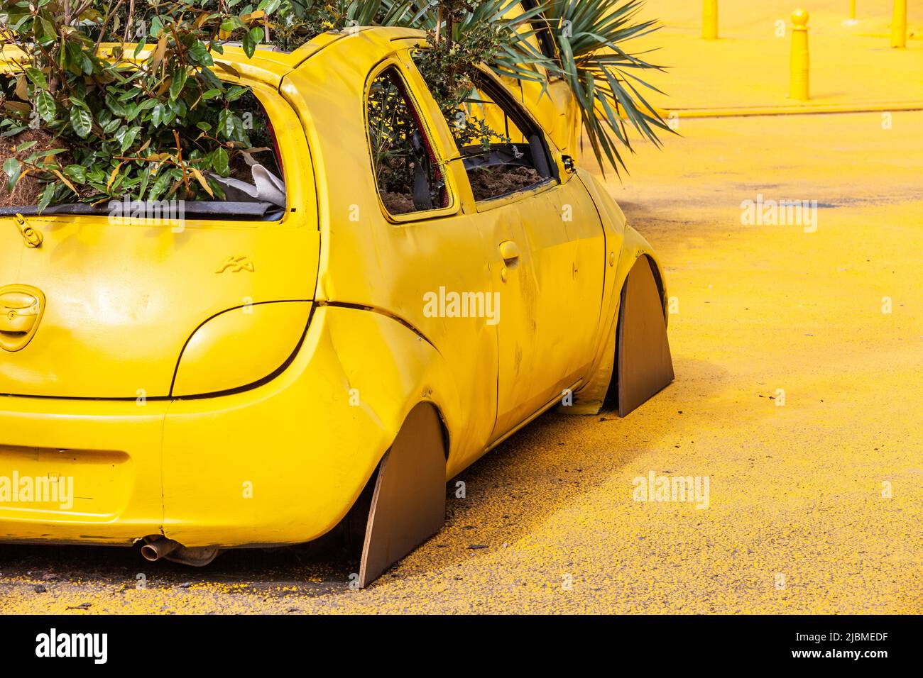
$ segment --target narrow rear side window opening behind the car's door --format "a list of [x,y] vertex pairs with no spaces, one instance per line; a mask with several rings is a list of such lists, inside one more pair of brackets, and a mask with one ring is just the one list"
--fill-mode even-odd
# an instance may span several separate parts
[[396,67],[372,80],[366,107],[372,170],[385,209],[398,216],[449,207],[437,157]]

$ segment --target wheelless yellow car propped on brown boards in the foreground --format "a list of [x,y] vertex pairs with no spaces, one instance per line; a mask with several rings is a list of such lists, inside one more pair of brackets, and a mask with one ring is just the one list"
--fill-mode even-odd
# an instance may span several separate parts
[[486,69],[469,113],[503,138],[458,148],[421,36],[227,48],[275,171],[178,226],[0,210],[0,539],[202,565],[339,526],[365,585],[539,414],[624,415],[672,380],[650,245]]

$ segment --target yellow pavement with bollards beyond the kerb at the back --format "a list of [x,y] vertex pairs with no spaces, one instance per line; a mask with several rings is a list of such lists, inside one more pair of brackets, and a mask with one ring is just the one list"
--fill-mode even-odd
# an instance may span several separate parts
[[[907,47],[890,45],[893,0],[858,0],[857,23],[846,24],[848,0],[719,0],[718,41],[701,40],[701,0],[649,0],[642,17],[662,28],[626,43],[667,66],[641,72],[667,96],[657,107],[689,111],[728,107],[923,103],[923,4],[908,3]],[[809,11],[811,101],[789,100],[791,13]],[[777,35],[778,21],[784,34]],[[641,89],[641,91],[645,91]],[[645,94],[646,96],[646,94]]]

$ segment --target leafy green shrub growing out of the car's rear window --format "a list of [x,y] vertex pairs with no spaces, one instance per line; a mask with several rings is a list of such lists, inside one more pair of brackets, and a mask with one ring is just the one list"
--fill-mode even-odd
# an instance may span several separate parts
[[234,155],[250,148],[248,90],[223,83],[212,54],[231,37],[253,54],[278,4],[234,14],[228,7],[239,0],[151,2],[143,11],[139,0],[138,12],[124,0],[4,0],[0,47],[10,70],[0,77],[0,132],[14,143],[29,130],[50,141],[15,146],[3,164],[6,192],[31,176],[40,208],[222,197],[207,172],[227,176]]

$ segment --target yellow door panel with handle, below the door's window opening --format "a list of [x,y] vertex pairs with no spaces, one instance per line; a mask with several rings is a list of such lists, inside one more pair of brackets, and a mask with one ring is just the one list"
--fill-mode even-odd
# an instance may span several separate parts
[[477,215],[500,301],[494,439],[580,386],[604,284],[602,225],[579,180],[510,197]]

